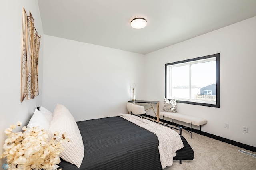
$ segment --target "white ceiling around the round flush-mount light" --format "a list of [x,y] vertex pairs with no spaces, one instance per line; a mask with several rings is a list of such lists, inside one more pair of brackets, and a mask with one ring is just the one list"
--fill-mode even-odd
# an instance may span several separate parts
[[[38,0],[45,35],[147,54],[256,16],[256,0]],[[148,22],[134,29],[130,22]]]

